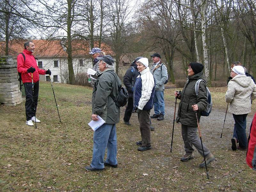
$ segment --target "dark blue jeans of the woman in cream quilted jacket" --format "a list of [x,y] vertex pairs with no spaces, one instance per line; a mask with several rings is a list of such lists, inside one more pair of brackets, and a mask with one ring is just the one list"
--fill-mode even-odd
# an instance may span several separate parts
[[241,148],[247,148],[247,137],[246,137],[246,116],[248,114],[243,115],[235,115],[233,114],[235,124],[234,124],[234,132],[233,137],[239,142],[239,146]]

